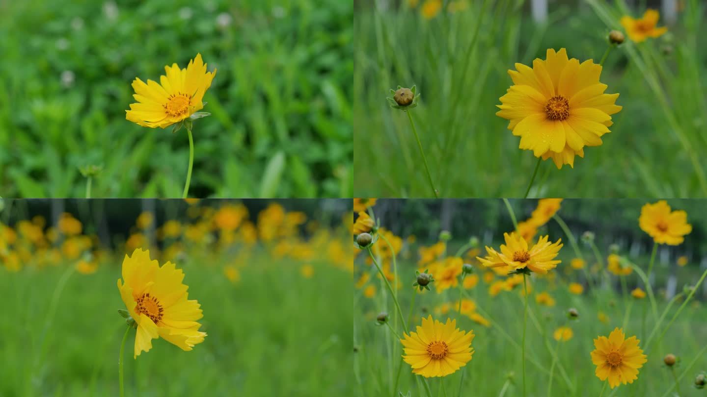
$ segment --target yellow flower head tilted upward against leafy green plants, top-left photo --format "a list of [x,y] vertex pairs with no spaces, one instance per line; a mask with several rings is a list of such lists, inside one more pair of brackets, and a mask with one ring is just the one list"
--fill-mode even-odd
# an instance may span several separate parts
[[204,108],[201,99],[211,87],[216,69],[207,72],[201,54],[189,61],[187,69],[172,64],[165,66],[165,73],[160,76],[160,84],[135,78],[132,87],[137,103],[125,111],[125,119],[141,126],[165,128]]

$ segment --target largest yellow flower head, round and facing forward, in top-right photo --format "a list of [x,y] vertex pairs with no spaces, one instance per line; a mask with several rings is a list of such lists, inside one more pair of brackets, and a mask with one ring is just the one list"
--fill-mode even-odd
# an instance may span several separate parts
[[520,136],[521,149],[535,157],[552,158],[561,168],[574,166],[574,157],[584,157],[585,146],[600,146],[601,136],[612,125],[611,114],[619,94],[604,94],[599,82],[602,66],[591,59],[582,64],[568,59],[565,49],[547,50],[547,59],[535,59],[533,67],[515,64],[508,71],[513,84],[501,97],[496,115],[509,119],[508,129]]

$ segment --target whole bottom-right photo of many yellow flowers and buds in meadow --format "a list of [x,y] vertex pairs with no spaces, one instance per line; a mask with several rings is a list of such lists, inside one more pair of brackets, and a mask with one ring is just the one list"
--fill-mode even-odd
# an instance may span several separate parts
[[702,201],[355,199],[359,396],[702,396]]

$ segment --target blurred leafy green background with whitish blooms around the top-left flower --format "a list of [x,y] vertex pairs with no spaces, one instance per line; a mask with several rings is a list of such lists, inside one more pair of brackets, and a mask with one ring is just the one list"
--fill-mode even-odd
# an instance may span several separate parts
[[125,119],[131,83],[200,52],[192,197],[351,196],[353,6],[339,0],[0,1],[0,196],[180,197],[186,131]]

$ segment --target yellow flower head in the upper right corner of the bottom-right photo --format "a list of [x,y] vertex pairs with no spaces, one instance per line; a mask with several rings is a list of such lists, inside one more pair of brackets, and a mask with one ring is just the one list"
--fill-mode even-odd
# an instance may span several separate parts
[[641,230],[653,237],[658,244],[678,245],[684,241],[684,235],[692,231],[687,223],[685,211],[672,211],[665,200],[655,204],[645,204],[638,218]]

